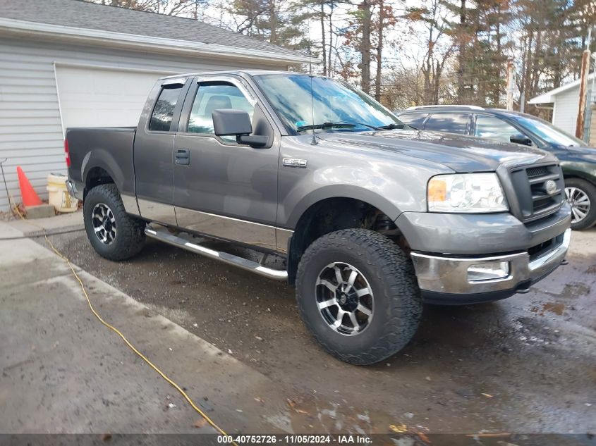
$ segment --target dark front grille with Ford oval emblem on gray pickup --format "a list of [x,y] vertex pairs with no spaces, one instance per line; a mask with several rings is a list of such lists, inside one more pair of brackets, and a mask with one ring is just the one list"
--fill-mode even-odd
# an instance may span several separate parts
[[563,175],[557,164],[513,168],[511,181],[524,222],[548,216],[564,202]]

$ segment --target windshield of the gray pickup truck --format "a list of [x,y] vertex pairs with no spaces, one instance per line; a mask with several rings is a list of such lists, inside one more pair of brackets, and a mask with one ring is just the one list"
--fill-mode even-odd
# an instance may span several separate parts
[[363,132],[384,126],[403,126],[377,101],[336,80],[312,76],[311,101],[309,75],[270,74],[254,78],[279,118],[288,129],[296,132],[315,131],[309,127],[313,125],[324,132]]

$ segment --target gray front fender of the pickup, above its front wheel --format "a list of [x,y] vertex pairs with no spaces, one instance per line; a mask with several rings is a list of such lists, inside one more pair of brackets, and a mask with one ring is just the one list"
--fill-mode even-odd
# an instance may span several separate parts
[[[294,229],[313,204],[351,198],[375,206],[395,221],[402,212],[426,211],[429,178],[446,166],[391,151],[341,141],[311,144],[309,135],[284,137],[279,156],[277,225]],[[283,159],[303,161],[303,167]]]

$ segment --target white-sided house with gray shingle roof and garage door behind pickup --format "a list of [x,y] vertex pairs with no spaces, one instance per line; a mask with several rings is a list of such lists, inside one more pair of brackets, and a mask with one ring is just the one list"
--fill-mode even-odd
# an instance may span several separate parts
[[[63,132],[136,125],[163,75],[259,68],[311,58],[188,18],[80,0],[0,0],[0,161],[16,202],[16,166],[47,197],[66,173]],[[0,178],[1,181],[1,178]],[[0,210],[8,209],[0,186]]]

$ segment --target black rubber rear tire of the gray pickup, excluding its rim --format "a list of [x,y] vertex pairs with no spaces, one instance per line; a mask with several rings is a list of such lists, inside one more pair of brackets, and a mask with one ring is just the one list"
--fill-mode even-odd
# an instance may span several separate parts
[[[116,219],[116,237],[111,244],[102,243],[92,223],[92,212],[97,204],[106,204]],[[145,244],[145,223],[126,213],[124,204],[114,184],[94,187],[87,193],[83,204],[85,230],[93,249],[100,256],[109,260],[124,260],[138,254]]]

